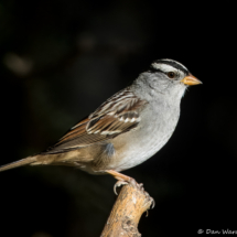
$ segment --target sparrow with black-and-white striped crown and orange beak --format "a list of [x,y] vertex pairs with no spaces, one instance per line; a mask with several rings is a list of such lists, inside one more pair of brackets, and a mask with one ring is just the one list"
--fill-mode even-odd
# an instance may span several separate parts
[[188,86],[202,84],[174,60],[157,60],[133,83],[71,128],[53,147],[0,166],[69,165],[136,183],[121,171],[154,155],[171,138]]

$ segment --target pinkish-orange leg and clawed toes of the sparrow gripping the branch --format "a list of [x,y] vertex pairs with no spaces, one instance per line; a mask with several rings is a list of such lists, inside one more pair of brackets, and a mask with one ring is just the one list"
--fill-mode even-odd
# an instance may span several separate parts
[[114,186],[114,192],[116,195],[118,195],[117,193],[117,187],[121,186],[121,185],[127,185],[130,184],[132,185],[134,188],[138,188],[139,191],[141,191],[146,197],[149,200],[149,202],[151,202],[151,208],[154,208],[154,200],[149,195],[148,192],[144,191],[143,184],[142,183],[137,183],[134,179],[127,176],[125,174],[121,174],[117,171],[114,170],[107,170],[106,171],[108,174],[111,174],[116,180],[118,180],[118,182],[115,184]]

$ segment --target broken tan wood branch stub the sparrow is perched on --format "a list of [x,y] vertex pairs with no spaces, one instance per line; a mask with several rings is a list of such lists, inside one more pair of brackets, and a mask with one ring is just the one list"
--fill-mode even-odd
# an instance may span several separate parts
[[138,223],[152,203],[143,188],[123,185],[100,237],[140,237]]

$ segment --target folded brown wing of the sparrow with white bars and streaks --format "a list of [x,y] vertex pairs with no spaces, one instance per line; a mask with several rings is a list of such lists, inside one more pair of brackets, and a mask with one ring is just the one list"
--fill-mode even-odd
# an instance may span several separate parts
[[147,104],[129,88],[104,103],[88,118],[74,126],[54,147],[43,153],[60,153],[106,141],[136,128],[139,112]]

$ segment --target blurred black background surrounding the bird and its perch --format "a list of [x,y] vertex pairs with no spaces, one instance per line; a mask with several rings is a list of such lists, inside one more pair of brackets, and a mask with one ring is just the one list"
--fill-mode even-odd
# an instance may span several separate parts
[[[129,85],[173,58],[188,89],[171,140],[125,171],[154,197],[142,236],[237,228],[236,17],[197,1],[0,1],[0,164],[37,153]],[[0,236],[99,236],[111,176],[58,166],[0,173]]]

